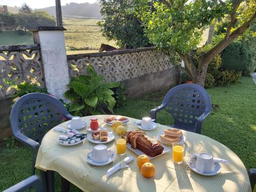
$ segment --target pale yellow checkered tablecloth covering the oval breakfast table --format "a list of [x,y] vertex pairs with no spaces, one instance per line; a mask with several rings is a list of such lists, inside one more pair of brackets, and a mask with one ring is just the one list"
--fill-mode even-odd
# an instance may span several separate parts
[[[98,122],[111,132],[112,127],[103,123],[105,117],[97,116]],[[91,116],[82,119],[90,123],[90,118]],[[131,124],[137,119],[129,119],[128,131],[138,129]],[[68,122],[59,126],[67,127]],[[146,134],[157,139],[157,134],[165,129],[168,127],[158,124],[155,130],[147,131]],[[87,132],[86,129],[79,131]],[[54,170],[83,191],[251,191],[243,162],[229,148],[203,135],[186,131],[183,131],[183,134],[187,138],[185,156],[207,152],[214,157],[227,159],[230,164],[222,164],[221,173],[216,176],[202,176],[193,172],[185,162],[175,164],[172,146],[165,145],[171,151],[151,160],[156,167],[156,173],[153,178],[147,179],[140,174],[136,163],[137,155],[128,148],[126,155],[117,156],[114,162],[105,166],[94,166],[87,162],[86,156],[96,144],[86,140],[74,146],[62,146],[57,143],[60,133],[52,129],[41,142],[35,167],[41,170]],[[116,148],[114,141],[105,145],[112,150]],[[135,161],[132,161],[128,168],[118,170],[109,178],[106,177],[109,168],[130,155],[134,156]]]

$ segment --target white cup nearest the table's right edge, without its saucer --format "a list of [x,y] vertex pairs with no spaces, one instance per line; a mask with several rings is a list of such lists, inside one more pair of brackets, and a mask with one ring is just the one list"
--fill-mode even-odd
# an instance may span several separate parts
[[196,168],[201,173],[214,172],[214,158],[209,153],[200,153],[197,156]]

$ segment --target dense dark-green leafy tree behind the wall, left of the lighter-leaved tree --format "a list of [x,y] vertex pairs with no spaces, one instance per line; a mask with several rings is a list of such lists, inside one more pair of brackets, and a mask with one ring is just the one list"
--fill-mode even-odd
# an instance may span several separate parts
[[98,22],[108,40],[115,40],[122,48],[150,46],[141,20],[131,12],[134,0],[100,0],[103,21]]

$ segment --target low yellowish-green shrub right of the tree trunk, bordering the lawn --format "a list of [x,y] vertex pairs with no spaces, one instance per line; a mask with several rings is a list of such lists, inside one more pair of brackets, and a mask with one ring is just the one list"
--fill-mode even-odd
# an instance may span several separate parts
[[224,86],[225,84],[240,82],[241,76],[241,72],[233,70],[219,71],[215,74],[215,85]]

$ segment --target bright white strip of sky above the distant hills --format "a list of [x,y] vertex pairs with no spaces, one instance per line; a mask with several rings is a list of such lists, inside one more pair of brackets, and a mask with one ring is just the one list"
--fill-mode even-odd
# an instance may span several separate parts
[[[67,3],[95,3],[96,0],[60,0],[61,5],[66,5]],[[0,0],[0,5],[7,5],[10,7],[20,7],[23,3],[28,4],[33,9],[45,8],[50,6],[55,6],[55,0]]]

